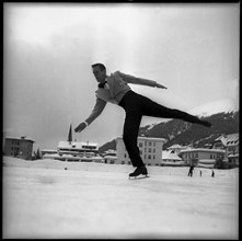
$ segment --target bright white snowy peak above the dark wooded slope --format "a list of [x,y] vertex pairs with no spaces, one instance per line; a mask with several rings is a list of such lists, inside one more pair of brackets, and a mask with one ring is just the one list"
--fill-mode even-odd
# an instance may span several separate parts
[[220,100],[215,102],[209,102],[191,110],[188,113],[197,116],[210,116],[217,113],[228,113],[238,111],[238,107],[234,105],[231,100]]

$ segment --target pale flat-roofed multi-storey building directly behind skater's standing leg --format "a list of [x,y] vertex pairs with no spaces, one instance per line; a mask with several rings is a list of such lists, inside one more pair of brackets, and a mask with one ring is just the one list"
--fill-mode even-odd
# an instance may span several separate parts
[[[140,156],[146,165],[161,165],[162,148],[165,142],[163,138],[138,137]],[[131,164],[128,152],[122,137],[116,139],[116,150],[118,164]]]

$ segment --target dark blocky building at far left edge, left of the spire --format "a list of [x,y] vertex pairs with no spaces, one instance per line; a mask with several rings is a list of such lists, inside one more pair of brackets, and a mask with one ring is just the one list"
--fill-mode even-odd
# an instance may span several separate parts
[[3,154],[32,160],[34,140],[23,137],[5,137]]

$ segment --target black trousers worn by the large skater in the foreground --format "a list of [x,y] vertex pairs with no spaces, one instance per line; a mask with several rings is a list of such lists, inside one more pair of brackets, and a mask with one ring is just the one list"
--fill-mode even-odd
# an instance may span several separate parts
[[134,167],[143,165],[139,148],[137,146],[142,115],[161,118],[180,118],[189,123],[200,122],[196,116],[178,110],[164,107],[148,97],[135,93],[134,91],[128,91],[118,105],[120,105],[126,112],[123,140]]

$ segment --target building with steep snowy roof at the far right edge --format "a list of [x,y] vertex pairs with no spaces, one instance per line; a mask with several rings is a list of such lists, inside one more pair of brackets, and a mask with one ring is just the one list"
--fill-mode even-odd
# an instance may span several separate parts
[[214,149],[220,149],[226,151],[224,160],[233,165],[239,165],[239,133],[230,134],[230,135],[222,135],[218,137],[214,144]]

